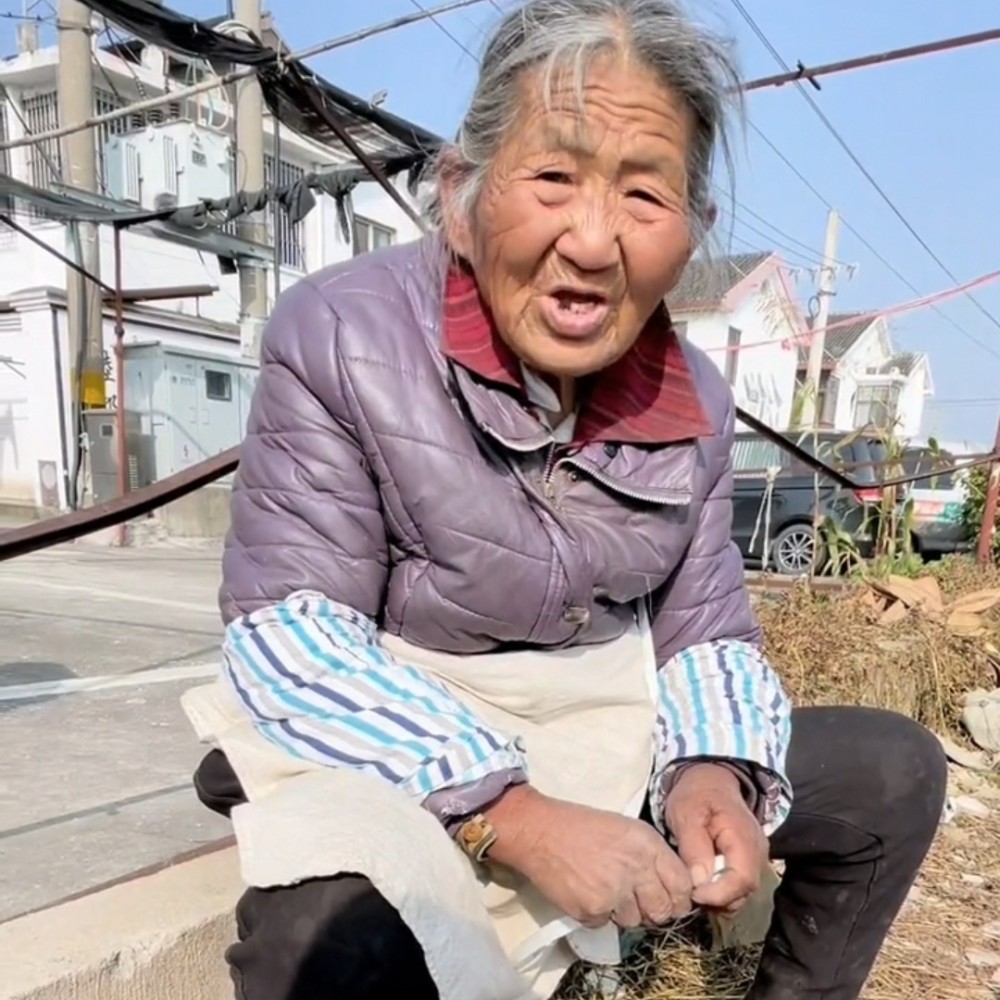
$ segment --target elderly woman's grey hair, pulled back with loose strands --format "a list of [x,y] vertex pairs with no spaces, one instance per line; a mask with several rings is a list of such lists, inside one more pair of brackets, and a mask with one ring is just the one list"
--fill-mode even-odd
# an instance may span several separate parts
[[431,172],[430,226],[443,228],[441,176],[453,171],[456,162],[455,208],[471,215],[517,117],[526,72],[539,71],[551,97],[557,78],[568,71],[582,96],[591,63],[607,52],[622,51],[636,57],[693,112],[688,212],[692,234],[700,242],[711,217],[709,189],[717,150],[732,177],[728,111],[740,100],[740,78],[731,47],[696,25],[680,0],[527,0],[506,15],[487,42],[458,136],[441,149]]

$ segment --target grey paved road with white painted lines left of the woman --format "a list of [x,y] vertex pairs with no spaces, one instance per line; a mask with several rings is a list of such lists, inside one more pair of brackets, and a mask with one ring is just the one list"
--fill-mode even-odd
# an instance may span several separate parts
[[225,836],[181,693],[215,669],[217,551],[0,563],[0,920]]

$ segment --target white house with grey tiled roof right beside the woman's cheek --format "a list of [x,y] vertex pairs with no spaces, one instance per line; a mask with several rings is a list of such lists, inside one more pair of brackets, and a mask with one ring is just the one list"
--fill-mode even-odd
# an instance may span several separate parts
[[781,258],[761,252],[693,260],[667,305],[678,332],[726,376],[736,405],[787,428],[804,320]]

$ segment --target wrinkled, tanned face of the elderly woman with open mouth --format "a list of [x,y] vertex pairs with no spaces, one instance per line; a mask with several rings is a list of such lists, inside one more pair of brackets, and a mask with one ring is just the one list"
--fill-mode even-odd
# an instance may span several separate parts
[[471,219],[448,211],[500,335],[537,371],[577,377],[635,343],[693,250],[688,108],[641,66],[597,61],[582,110],[525,81],[518,120]]

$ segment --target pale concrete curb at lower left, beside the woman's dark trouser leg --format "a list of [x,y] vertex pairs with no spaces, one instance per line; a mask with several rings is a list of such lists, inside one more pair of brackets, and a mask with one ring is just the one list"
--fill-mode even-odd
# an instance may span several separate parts
[[0,924],[0,1000],[229,1000],[227,848]]

